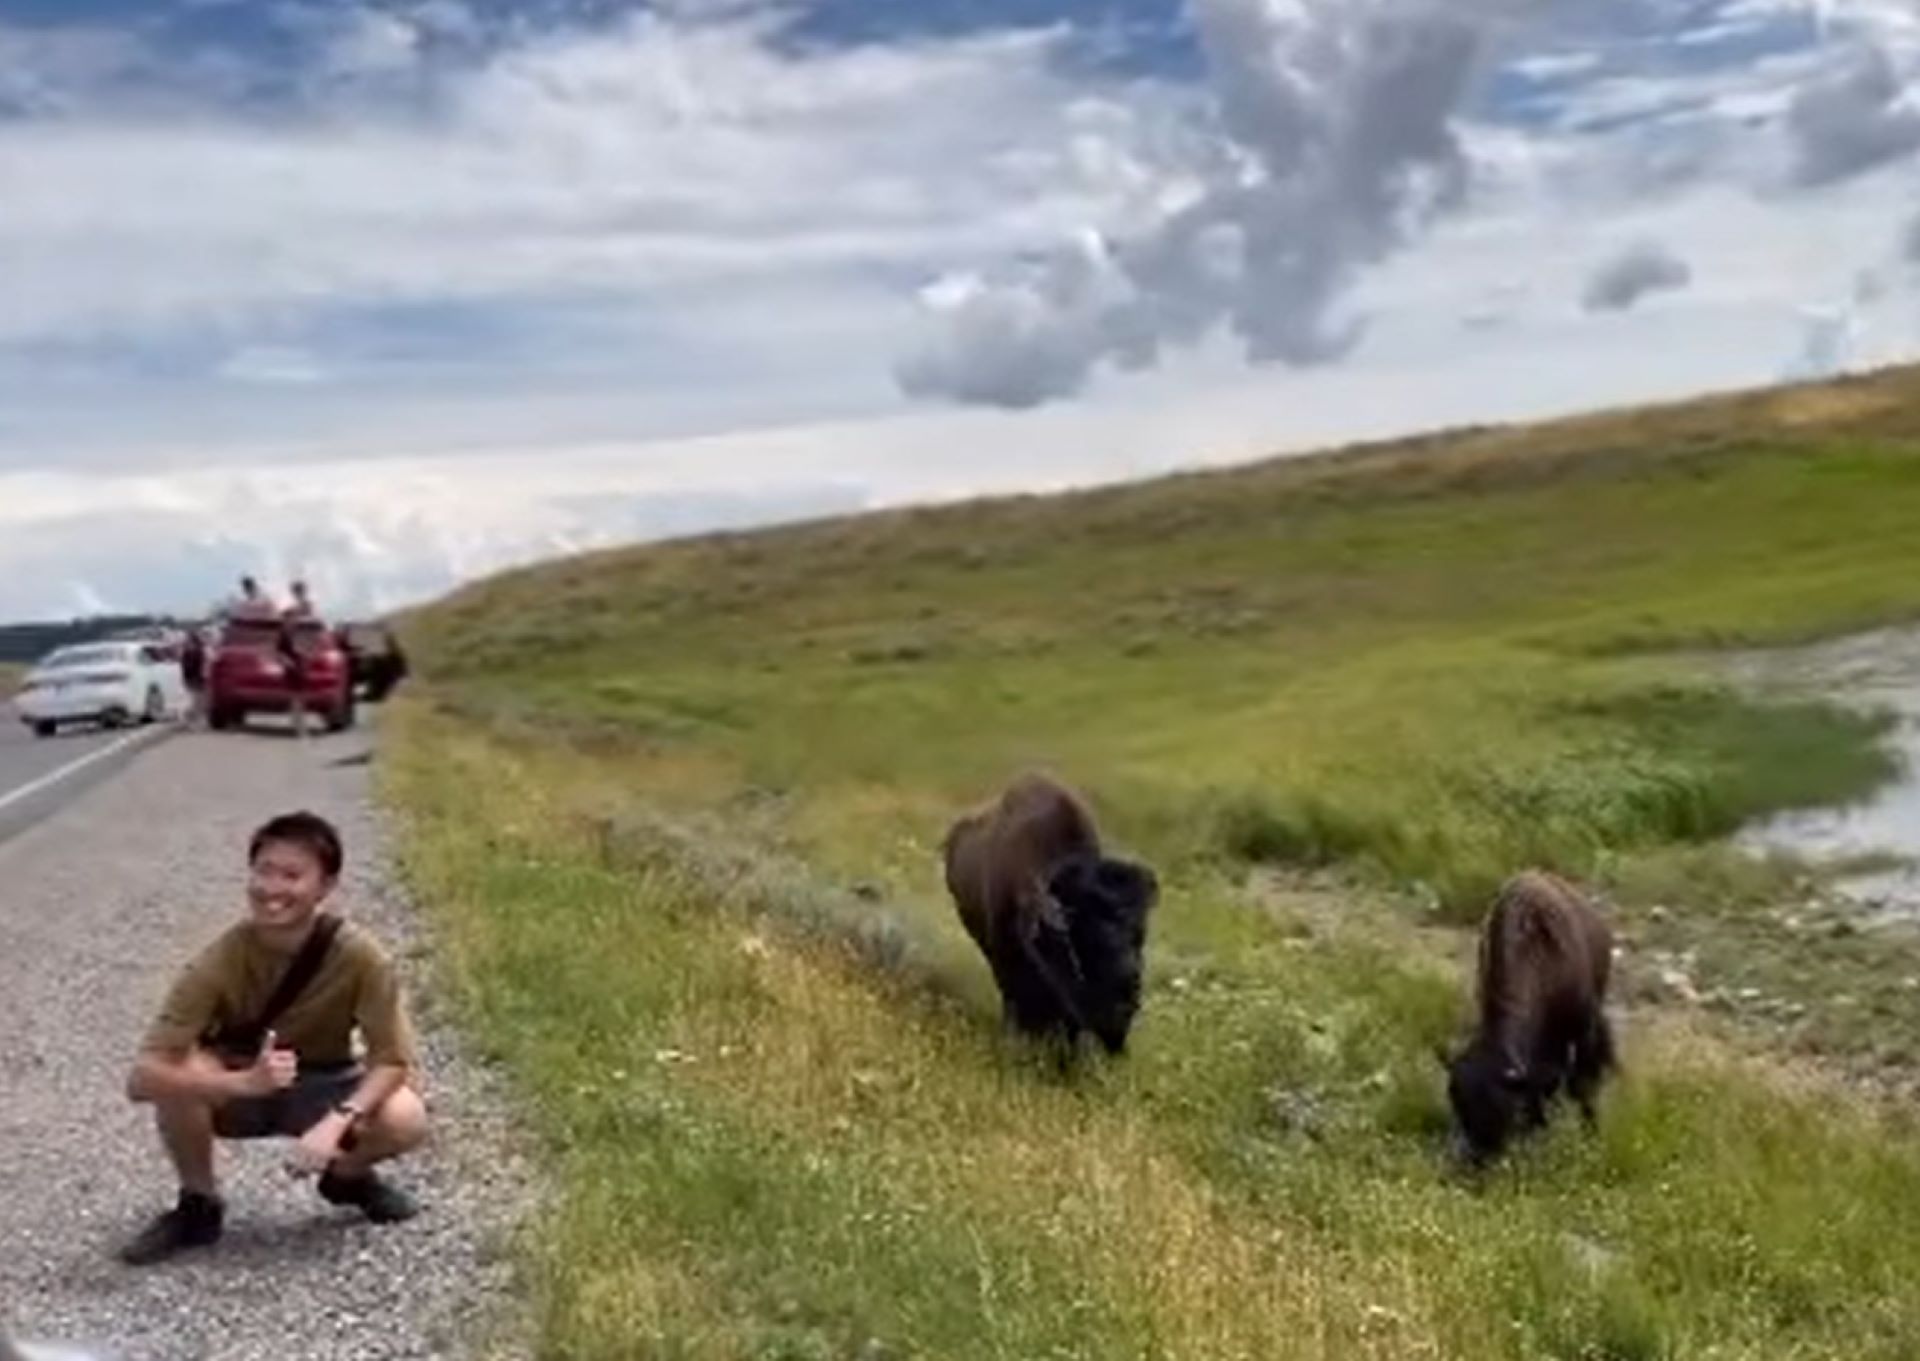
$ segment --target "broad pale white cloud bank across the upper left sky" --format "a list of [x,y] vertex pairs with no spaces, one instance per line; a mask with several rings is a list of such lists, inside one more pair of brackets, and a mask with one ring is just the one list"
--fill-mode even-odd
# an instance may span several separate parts
[[[328,23],[334,73],[413,60],[407,19]],[[349,81],[292,125],[136,119],[77,81],[67,117],[0,123],[0,342],[407,299],[639,307],[1006,250],[1104,213],[1125,171],[1087,155],[1110,102],[1050,52],[1020,35],[783,54],[762,21],[641,15],[434,71],[424,107]]]

